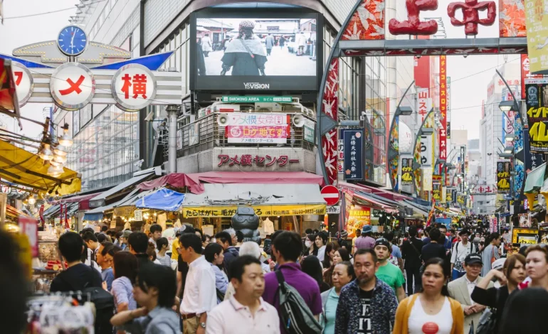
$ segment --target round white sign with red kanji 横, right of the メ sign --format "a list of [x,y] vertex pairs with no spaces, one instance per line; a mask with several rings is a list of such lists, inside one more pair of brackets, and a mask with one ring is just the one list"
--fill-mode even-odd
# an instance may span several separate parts
[[125,65],[112,76],[112,97],[126,112],[146,108],[156,97],[156,79],[139,64]]

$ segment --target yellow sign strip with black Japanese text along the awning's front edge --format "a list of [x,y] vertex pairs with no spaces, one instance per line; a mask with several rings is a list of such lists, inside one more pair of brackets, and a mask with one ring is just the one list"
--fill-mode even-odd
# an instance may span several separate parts
[[[255,215],[259,217],[269,216],[293,216],[293,215],[325,215],[325,204],[303,204],[303,205],[253,205]],[[199,217],[232,217],[236,215],[238,206],[204,206],[185,207],[183,206],[184,218]]]

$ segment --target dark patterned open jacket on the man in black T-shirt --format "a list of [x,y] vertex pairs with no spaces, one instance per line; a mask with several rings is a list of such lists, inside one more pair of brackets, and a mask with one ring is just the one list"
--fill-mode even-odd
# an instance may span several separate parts
[[[392,288],[376,279],[371,299],[371,321],[375,334],[390,334],[394,328],[398,300]],[[337,305],[337,320],[335,334],[354,334],[359,328],[359,318],[362,313],[362,301],[359,299],[357,279],[342,288]]]

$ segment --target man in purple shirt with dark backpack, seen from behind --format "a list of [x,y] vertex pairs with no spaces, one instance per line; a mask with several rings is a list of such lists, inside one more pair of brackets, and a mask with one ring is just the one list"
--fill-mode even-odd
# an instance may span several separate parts
[[[277,231],[278,232],[278,231]],[[300,294],[306,306],[310,308],[312,314],[319,319],[322,313],[322,298],[320,296],[320,287],[315,279],[308,276],[300,269],[297,259],[300,256],[302,243],[300,236],[295,232],[280,232],[273,239],[272,253],[278,262],[277,271],[281,271],[285,283]],[[278,278],[275,272],[265,274],[265,291],[263,299],[274,306],[280,314],[280,297],[278,291]],[[287,333],[285,323],[280,320],[280,332]]]

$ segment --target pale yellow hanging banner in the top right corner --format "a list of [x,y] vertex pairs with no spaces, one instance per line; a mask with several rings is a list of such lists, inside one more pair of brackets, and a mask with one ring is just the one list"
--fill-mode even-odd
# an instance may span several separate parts
[[548,70],[548,15],[546,1],[525,0],[529,66],[533,74]]

